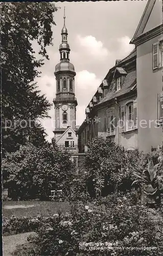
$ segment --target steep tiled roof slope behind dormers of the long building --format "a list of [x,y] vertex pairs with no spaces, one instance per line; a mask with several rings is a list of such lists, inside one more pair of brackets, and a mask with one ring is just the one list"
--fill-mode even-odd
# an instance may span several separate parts
[[115,82],[114,80],[112,80],[110,83],[110,87],[107,95],[97,105],[130,92],[131,88],[135,84],[136,84],[136,70],[132,70],[128,72],[127,76],[125,77],[124,83],[122,85],[122,89],[120,91],[115,90]]

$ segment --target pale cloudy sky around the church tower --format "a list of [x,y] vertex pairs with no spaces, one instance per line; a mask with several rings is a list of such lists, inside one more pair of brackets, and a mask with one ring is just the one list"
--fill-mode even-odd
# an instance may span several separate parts
[[[52,27],[53,46],[46,48],[50,60],[45,60],[41,75],[35,81],[41,94],[53,103],[56,93],[55,66],[59,63],[59,45],[63,27],[63,8],[65,25],[68,31],[68,44],[71,48],[70,62],[75,66],[75,95],[78,101],[77,125],[85,119],[85,108],[91,100],[116,59],[123,59],[133,49],[129,44],[147,1],[111,2],[57,2],[60,7],[54,13],[56,26]],[[37,52],[37,46],[36,52]],[[54,137],[55,110],[49,111],[51,119],[41,120],[51,141]]]

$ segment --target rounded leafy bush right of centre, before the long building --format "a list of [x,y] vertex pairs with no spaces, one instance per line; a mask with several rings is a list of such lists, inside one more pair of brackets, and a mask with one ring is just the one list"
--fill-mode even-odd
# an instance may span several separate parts
[[85,170],[89,190],[100,189],[103,196],[108,195],[121,182],[126,169],[127,159],[123,147],[103,137],[88,144]]

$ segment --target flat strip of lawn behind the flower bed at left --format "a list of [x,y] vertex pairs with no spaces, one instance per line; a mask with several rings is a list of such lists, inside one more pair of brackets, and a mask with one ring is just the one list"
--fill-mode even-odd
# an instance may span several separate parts
[[55,201],[9,201],[3,202],[3,217],[52,216],[58,211],[69,211],[69,203]]

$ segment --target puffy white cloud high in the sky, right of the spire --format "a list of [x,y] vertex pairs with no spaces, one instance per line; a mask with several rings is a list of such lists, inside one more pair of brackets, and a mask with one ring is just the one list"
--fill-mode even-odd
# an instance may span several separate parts
[[102,41],[97,41],[96,37],[92,35],[85,37],[77,35],[77,42],[79,42],[80,46],[87,51],[87,54],[90,54],[99,60],[105,59],[109,54],[108,50],[103,47]]

